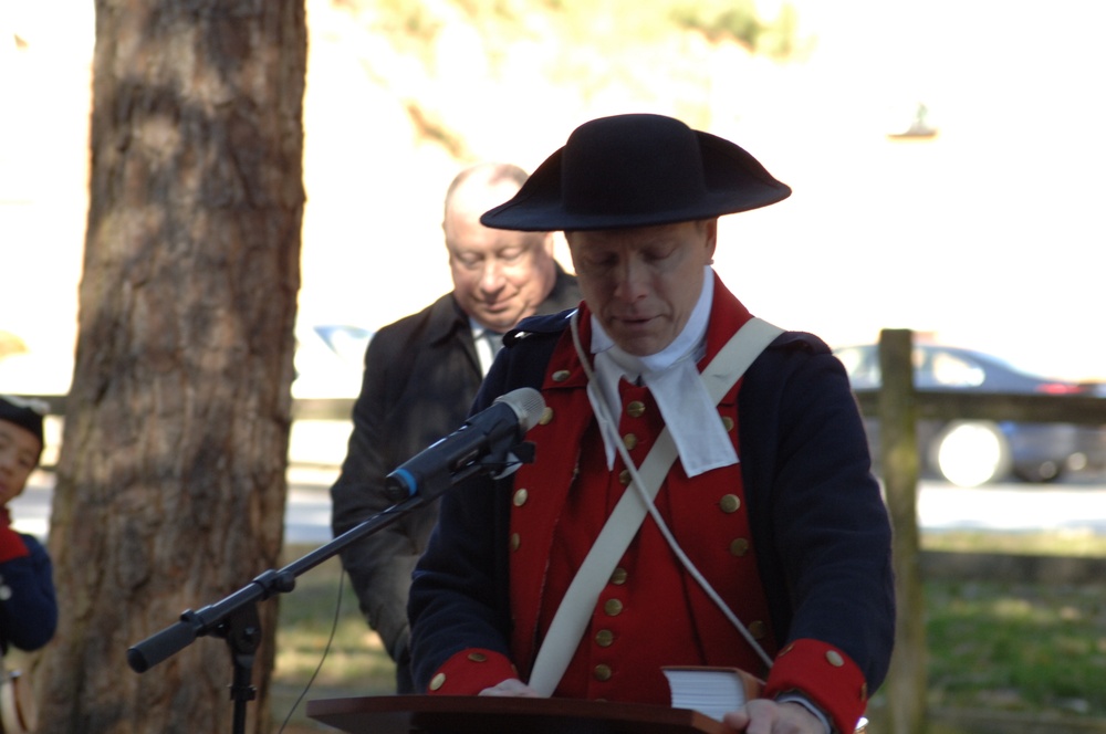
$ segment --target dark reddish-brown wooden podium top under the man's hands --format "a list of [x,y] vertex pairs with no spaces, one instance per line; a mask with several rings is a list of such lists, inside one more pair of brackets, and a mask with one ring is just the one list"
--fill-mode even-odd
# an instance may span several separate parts
[[351,734],[724,734],[698,711],[576,699],[380,695],[307,702]]

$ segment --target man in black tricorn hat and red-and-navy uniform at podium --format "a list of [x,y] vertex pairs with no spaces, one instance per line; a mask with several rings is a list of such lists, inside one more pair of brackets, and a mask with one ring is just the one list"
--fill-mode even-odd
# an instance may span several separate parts
[[[895,616],[860,418],[825,344],[710,266],[719,216],[790,192],[728,140],[619,115],[481,218],[564,230],[584,302],[523,322],[481,387],[473,410],[531,387],[545,412],[531,464],[442,500],[409,605],[419,686],[667,703],[664,667],[739,667],[765,685],[734,730],[853,731]],[[624,495],[648,514],[612,532]]]

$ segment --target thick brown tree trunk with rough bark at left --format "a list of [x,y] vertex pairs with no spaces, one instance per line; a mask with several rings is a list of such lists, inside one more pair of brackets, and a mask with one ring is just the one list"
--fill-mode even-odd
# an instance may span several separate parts
[[[300,285],[303,0],[97,0],[76,368],[41,732],[230,731],[227,643],[127,649],[279,562]],[[248,731],[268,731],[276,600]]]

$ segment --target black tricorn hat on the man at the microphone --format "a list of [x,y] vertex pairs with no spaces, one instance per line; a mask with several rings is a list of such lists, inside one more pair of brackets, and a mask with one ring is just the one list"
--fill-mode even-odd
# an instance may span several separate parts
[[664,115],[584,123],[484,227],[601,230],[713,219],[782,201],[791,188],[733,143]]

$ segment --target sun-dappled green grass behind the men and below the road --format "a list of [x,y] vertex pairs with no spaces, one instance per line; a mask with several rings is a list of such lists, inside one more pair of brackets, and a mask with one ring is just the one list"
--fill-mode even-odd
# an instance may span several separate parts
[[[925,534],[922,547],[974,553],[1104,556],[1106,538],[1064,534]],[[292,560],[311,548],[290,548]],[[334,621],[337,559],[281,598],[272,711],[279,725],[322,658]],[[1082,586],[928,579],[931,707],[1106,720],[1106,579]],[[331,651],[307,699],[393,692],[393,664],[344,588]],[[334,731],[301,704],[289,734]]]

